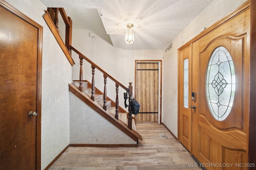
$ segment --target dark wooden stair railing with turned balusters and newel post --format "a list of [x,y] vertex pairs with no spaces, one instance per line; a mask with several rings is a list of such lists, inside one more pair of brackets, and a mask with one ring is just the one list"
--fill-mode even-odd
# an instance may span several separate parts
[[[95,73],[95,68],[97,68],[100,72],[103,73],[103,77],[104,77],[104,94],[103,94],[103,109],[107,110],[107,78],[110,78],[112,81],[115,82],[116,84],[116,113],[115,113],[115,118],[118,120],[118,111],[119,111],[119,104],[118,104],[118,91],[119,91],[119,87],[123,88],[124,90],[127,91],[127,87],[124,86],[122,83],[120,83],[118,80],[116,80],[114,77],[112,77],[110,74],[108,74],[106,71],[104,71],[102,68],[100,68],[100,66],[98,66],[97,64],[95,64],[94,62],[92,62],[90,59],[88,59],[85,55],[83,55],[82,53],[80,53],[80,51],[78,51],[77,49],[75,49],[72,45],[70,45],[70,50],[74,51],[75,53],[77,53],[79,55],[79,59],[80,59],[80,73],[79,73],[79,87],[78,90],[80,92],[84,92],[83,89],[83,60],[86,60],[88,63],[91,64],[92,67],[92,92],[91,92],[91,100],[95,101],[95,78],[94,78],[94,73]],[[130,130],[132,130],[132,113],[131,113],[131,106],[130,103],[132,102],[132,82],[129,82],[129,107],[128,107],[128,128]]]

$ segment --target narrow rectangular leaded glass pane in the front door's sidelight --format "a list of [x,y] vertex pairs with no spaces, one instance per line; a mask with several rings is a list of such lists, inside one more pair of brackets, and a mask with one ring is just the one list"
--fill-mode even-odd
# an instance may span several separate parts
[[188,108],[188,59],[184,60],[184,81],[183,81],[183,105]]

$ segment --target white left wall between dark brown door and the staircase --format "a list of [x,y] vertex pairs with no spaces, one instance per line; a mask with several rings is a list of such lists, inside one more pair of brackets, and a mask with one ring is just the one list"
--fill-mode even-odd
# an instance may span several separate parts
[[43,28],[41,168],[69,143],[69,91],[72,67],[46,25],[46,6],[39,0],[6,0]]

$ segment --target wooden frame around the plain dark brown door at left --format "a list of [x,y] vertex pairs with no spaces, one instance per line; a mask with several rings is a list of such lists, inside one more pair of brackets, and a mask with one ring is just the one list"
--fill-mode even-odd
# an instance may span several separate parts
[[37,122],[36,122],[36,169],[41,169],[41,109],[42,109],[42,45],[43,45],[43,27],[34,20],[11,6],[5,1],[0,1],[0,6],[26,21],[30,25],[38,29],[38,54],[37,54]]

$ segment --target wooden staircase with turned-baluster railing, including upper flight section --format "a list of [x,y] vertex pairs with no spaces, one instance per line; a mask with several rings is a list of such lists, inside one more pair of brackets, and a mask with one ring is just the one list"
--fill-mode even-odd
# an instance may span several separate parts
[[[52,12],[54,13],[52,13]],[[51,14],[49,14],[49,13]],[[66,40],[65,43],[60,37],[58,32],[58,12],[60,12],[64,23],[66,24]],[[43,15],[44,20],[52,31],[56,41],[60,45],[63,53],[66,55],[66,58],[73,66],[74,61],[71,56],[71,52],[76,53],[80,59],[80,74],[79,80],[74,81],[74,83],[69,84],[69,90],[75,96],[80,98],[84,103],[102,115],[105,119],[107,119],[110,123],[118,127],[121,131],[126,133],[129,137],[131,137],[134,141],[138,141],[138,139],[142,140],[142,137],[139,133],[136,132],[136,125],[134,121],[134,117],[131,113],[131,106],[128,107],[128,112],[119,106],[118,104],[118,89],[123,88],[124,90],[129,89],[128,100],[132,101],[132,82],[129,82],[128,88],[100,68],[97,64],[88,59],[85,55],[80,53],[77,49],[75,49],[72,44],[72,20],[70,17],[66,16],[66,13],[63,8],[48,8]],[[83,61],[87,61],[91,64],[92,68],[92,81],[91,83],[87,80],[83,80]],[[103,73],[104,77],[104,92],[102,93],[96,87],[94,87],[94,72],[95,69],[98,69]],[[114,81],[116,85],[116,102],[112,101],[110,98],[106,96],[106,83],[107,78]],[[76,84],[76,85],[75,85]]]

